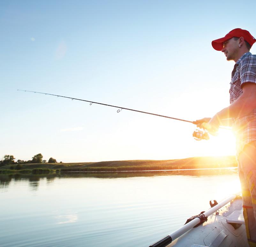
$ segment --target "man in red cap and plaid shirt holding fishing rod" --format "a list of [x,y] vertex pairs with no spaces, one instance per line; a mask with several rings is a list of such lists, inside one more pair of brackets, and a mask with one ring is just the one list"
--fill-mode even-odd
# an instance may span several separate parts
[[230,82],[230,105],[212,118],[193,123],[215,134],[220,125],[233,126],[243,196],[243,212],[249,246],[256,246],[256,55],[249,51],[256,42],[247,31],[236,28],[212,46],[235,62]]

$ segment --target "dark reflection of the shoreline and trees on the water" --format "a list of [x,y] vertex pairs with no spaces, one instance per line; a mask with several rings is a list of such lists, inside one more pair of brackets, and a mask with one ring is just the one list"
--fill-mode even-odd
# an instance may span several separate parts
[[152,176],[214,176],[237,174],[237,168],[222,169],[194,169],[194,170],[166,170],[166,171],[115,171],[115,172],[66,172],[58,174],[0,174],[0,188],[7,188],[11,181],[29,181],[32,190],[37,190],[40,180],[46,179],[47,184],[56,178],[131,178]]

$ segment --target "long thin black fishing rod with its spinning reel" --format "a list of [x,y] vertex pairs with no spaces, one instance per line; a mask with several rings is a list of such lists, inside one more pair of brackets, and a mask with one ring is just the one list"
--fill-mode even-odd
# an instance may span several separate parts
[[[184,120],[184,119],[180,119],[180,118],[174,118],[174,117],[164,116],[164,115],[155,114],[155,113],[143,112],[143,111],[139,111],[139,110],[134,110],[134,109],[125,108],[125,107],[116,106],[116,105],[109,105],[109,104],[94,102],[94,101],[85,100],[85,99],[72,98],[72,97],[67,97],[67,96],[62,96],[62,95],[57,95],[57,94],[43,93],[43,92],[36,92],[36,91],[29,91],[29,90],[21,90],[21,89],[17,89],[17,91],[32,92],[32,93],[40,93],[40,94],[52,95],[52,96],[57,96],[57,97],[62,97],[62,98],[70,98],[70,99],[72,99],[72,100],[75,99],[75,100],[80,100],[80,101],[89,102],[90,105],[92,105],[92,104],[106,105],[106,106],[110,106],[110,107],[119,108],[119,109],[117,110],[117,113],[121,112],[121,111],[124,109],[124,110],[128,110],[128,111],[139,112],[139,113],[145,113],[145,114],[150,114],[150,115],[154,115],[154,116],[158,116],[158,117],[169,118],[169,119],[174,119],[174,120],[179,120],[179,121],[184,121],[184,122],[188,122],[188,123],[193,123],[193,124],[195,124],[193,121],[189,121],[189,120]],[[120,109],[121,109],[121,110],[120,110]],[[208,136],[207,131],[202,131],[202,130],[199,130],[199,129],[196,129],[196,130],[194,131],[193,137],[194,137],[195,140],[197,140],[197,141],[200,141],[200,140],[203,140],[203,139],[204,139],[204,140],[209,140],[209,136]]]

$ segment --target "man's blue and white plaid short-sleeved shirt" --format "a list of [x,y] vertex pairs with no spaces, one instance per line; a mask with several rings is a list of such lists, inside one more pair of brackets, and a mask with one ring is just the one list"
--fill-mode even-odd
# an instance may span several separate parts
[[[243,93],[241,85],[247,82],[256,83],[256,55],[250,52],[237,60],[231,74],[230,104]],[[237,137],[237,156],[244,146],[256,141],[256,109],[245,116],[233,118],[233,130]]]

